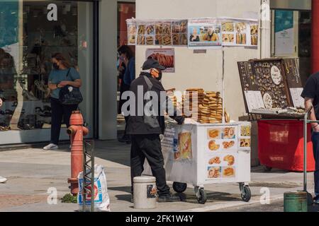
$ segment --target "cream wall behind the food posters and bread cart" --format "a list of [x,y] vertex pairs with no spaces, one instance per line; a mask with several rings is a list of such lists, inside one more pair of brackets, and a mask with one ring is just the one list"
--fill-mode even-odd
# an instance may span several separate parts
[[[137,19],[234,17],[244,18],[259,13],[258,0],[136,0]],[[147,47],[136,47],[136,71],[139,73]],[[176,73],[163,76],[164,88],[204,88],[221,91],[222,52],[210,49],[207,54],[194,54],[187,47],[175,47]],[[245,114],[245,103],[237,61],[259,57],[259,49],[225,47],[225,106],[231,119]]]

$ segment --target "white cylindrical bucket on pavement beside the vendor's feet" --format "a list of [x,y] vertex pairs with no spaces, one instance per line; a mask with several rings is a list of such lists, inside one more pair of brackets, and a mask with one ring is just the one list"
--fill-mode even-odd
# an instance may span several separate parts
[[134,177],[134,208],[156,208],[157,188],[155,177]]

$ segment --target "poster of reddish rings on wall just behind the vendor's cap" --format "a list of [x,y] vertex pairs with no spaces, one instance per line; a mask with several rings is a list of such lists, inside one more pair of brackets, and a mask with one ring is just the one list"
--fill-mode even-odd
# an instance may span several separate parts
[[164,73],[175,72],[175,51],[174,48],[146,49],[146,59],[155,59],[164,66]]

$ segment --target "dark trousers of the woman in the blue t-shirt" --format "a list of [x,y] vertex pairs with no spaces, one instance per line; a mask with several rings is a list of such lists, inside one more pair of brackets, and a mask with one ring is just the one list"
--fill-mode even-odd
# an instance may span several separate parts
[[60,100],[51,98],[51,143],[59,144],[62,117],[69,127],[69,118],[73,111],[77,110],[78,105],[62,105]]

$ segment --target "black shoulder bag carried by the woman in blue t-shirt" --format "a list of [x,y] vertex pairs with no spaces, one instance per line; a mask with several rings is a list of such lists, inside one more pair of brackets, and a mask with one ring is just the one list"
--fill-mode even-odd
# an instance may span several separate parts
[[[69,76],[69,71],[67,71],[67,77]],[[60,90],[59,100],[62,105],[79,105],[83,101],[83,97],[79,88],[65,85]]]

